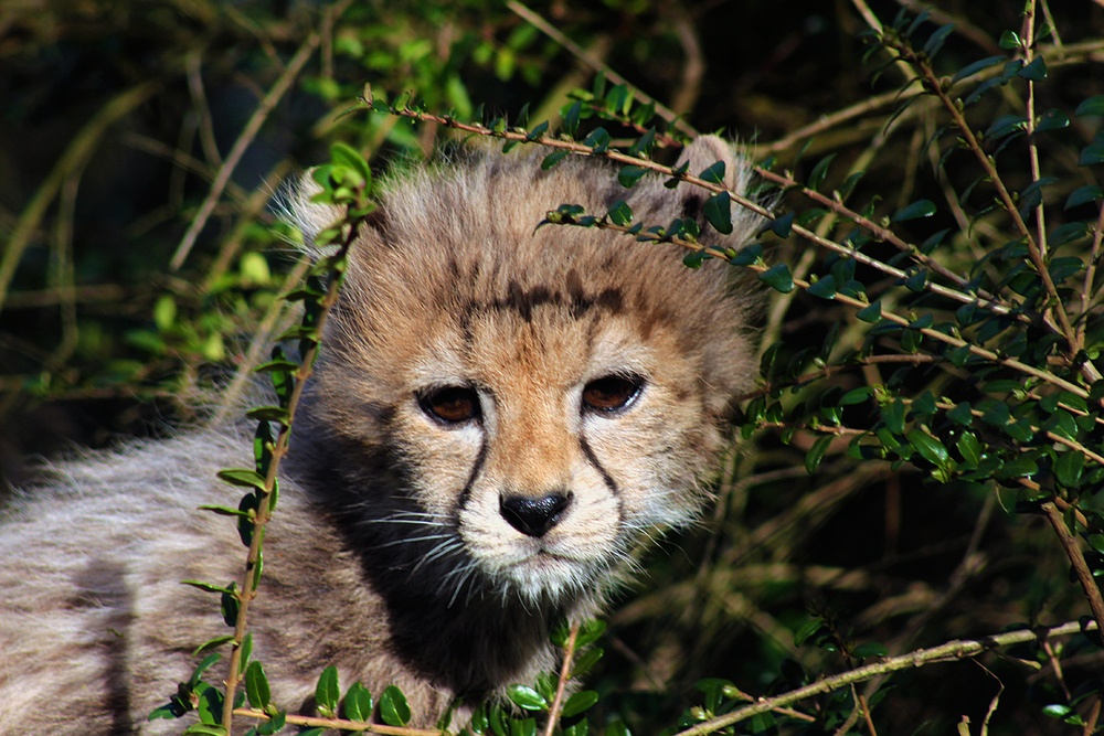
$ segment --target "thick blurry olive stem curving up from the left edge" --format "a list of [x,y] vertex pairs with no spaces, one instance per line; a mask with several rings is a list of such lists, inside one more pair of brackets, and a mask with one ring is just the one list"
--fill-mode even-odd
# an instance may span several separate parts
[[50,203],[57,196],[70,172],[76,171],[87,163],[96,145],[113,122],[149,99],[160,86],[161,83],[155,79],[119,94],[104,105],[73,138],[73,142],[65,149],[45,181],[39,185],[34,196],[23,209],[3,249],[3,256],[0,257],[0,308],[3,307],[8,286],[15,275],[15,267],[19,265],[23,250],[31,244],[39,223],[42,222],[46,210],[50,209]]

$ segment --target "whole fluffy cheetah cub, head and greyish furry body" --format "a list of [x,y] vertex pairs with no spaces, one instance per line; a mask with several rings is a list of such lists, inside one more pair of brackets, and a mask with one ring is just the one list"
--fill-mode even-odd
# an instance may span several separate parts
[[[684,157],[693,173],[725,160],[744,183],[719,139]],[[619,199],[666,225],[697,216],[699,192],[626,190],[588,159],[455,159],[386,188],[283,468],[251,627],[293,712],[329,664],[376,694],[397,684],[422,725],[531,681],[550,628],[593,616],[641,536],[699,512],[719,425],[751,381],[723,264],[537,230],[559,204],[601,214]],[[300,199],[308,237],[336,218]],[[739,245],[753,223],[734,225],[703,239]],[[4,512],[0,734],[179,730],[147,715],[227,632],[213,597],[179,580],[226,584],[244,558],[233,524],[195,508],[233,502],[214,472],[246,467],[250,445],[209,430],[82,459]]]

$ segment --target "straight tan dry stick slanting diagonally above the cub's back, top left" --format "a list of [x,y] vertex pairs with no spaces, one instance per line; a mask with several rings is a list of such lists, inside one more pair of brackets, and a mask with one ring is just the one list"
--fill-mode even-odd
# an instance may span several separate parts
[[250,118],[248,122],[245,124],[245,128],[242,130],[237,140],[234,141],[234,146],[230,149],[226,154],[226,160],[223,161],[222,168],[219,169],[219,174],[214,178],[214,182],[211,184],[211,191],[208,192],[206,199],[200,205],[199,212],[195,213],[195,217],[192,218],[192,224],[189,225],[188,232],[184,233],[184,237],[180,241],[180,245],[177,246],[177,252],[172,256],[172,260],[169,263],[169,268],[172,270],[179,270],[181,266],[184,265],[184,260],[188,258],[188,254],[191,253],[192,246],[195,245],[195,238],[199,237],[200,231],[206,225],[208,220],[211,217],[211,213],[214,212],[215,205],[219,204],[219,200],[222,198],[222,192],[230,183],[230,178],[234,173],[234,169],[242,161],[242,157],[245,156],[245,150],[256,138],[257,134],[261,131],[261,126],[264,125],[265,120],[268,118],[268,114],[273,111],[276,104],[287,94],[287,90],[291,88],[296,78],[299,76],[299,72],[307,64],[311,54],[321,43],[325,35],[329,34],[333,28],[333,23],[344,12],[344,10],[352,3],[352,0],[339,0],[326,11],[322,17],[322,22],[317,31],[312,31],[307,40],[302,42],[299,50],[291,57],[288,63],[287,68],[280,74],[276,84],[273,85],[268,94],[264,96],[257,109],[253,111],[253,116]]

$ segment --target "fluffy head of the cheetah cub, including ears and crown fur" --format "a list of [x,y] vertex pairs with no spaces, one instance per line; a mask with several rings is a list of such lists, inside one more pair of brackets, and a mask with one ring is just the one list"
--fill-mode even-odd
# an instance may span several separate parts
[[[753,375],[747,299],[725,265],[691,270],[675,246],[537,227],[560,204],[601,215],[617,200],[667,225],[699,217],[705,194],[648,178],[625,189],[593,159],[542,171],[540,156],[476,147],[393,178],[351,254],[319,371],[328,430],[395,466],[400,488],[382,487],[365,461],[363,513],[373,498],[408,500],[395,542],[422,540],[417,565],[450,567],[454,598],[465,585],[541,605],[601,597],[641,537],[700,511],[719,425]],[[724,160],[730,184],[745,183],[720,139],[683,157],[696,174]],[[335,217],[307,206],[299,218],[309,234]],[[753,227],[737,213],[731,236],[703,226],[702,239],[739,246]]]

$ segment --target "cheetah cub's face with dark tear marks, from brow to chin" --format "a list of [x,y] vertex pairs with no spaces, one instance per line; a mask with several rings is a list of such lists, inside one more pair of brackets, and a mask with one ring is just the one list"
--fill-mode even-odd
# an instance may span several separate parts
[[455,520],[484,573],[559,598],[693,512],[697,372],[665,331],[643,339],[616,290],[576,292],[573,309],[548,285],[506,295],[426,326],[396,420],[423,503]]

